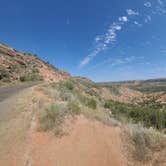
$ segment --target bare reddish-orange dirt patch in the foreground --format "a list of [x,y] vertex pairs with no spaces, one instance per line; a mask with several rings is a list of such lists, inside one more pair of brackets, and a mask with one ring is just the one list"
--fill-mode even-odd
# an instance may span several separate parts
[[106,126],[83,116],[69,125],[62,138],[48,133],[32,134],[31,166],[126,166],[120,128]]

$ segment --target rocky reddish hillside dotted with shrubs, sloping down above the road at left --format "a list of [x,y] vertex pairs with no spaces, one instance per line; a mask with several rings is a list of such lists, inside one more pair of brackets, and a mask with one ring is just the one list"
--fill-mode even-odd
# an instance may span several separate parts
[[59,81],[70,77],[36,55],[0,43],[0,81]]

